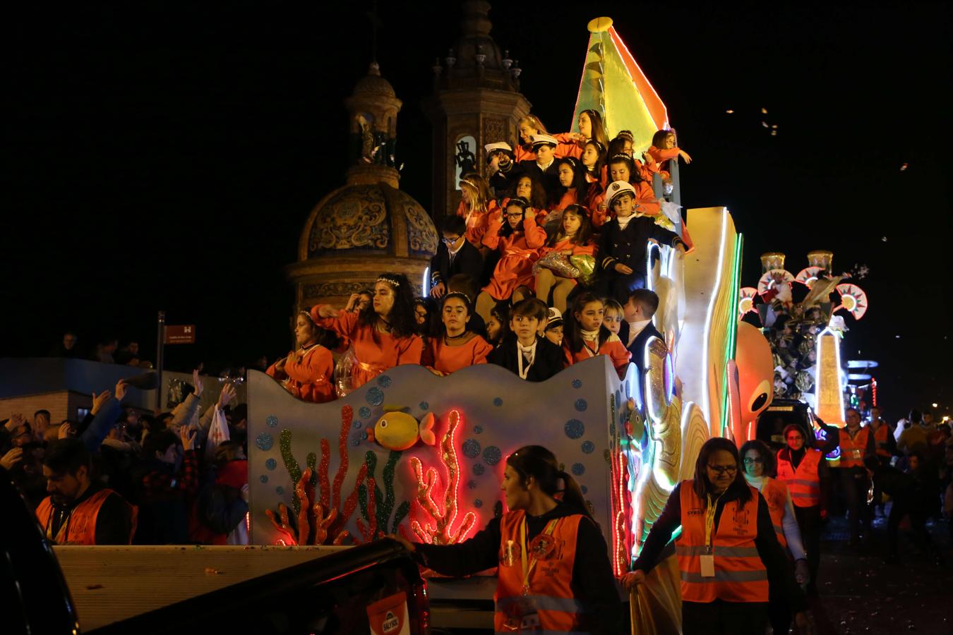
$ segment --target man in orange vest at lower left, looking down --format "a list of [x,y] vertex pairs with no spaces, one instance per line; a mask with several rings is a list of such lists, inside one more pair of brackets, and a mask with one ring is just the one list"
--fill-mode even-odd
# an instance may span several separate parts
[[50,496],[36,508],[47,539],[56,545],[129,545],[136,508],[90,479],[90,452],[67,438],[47,449],[43,476]]

